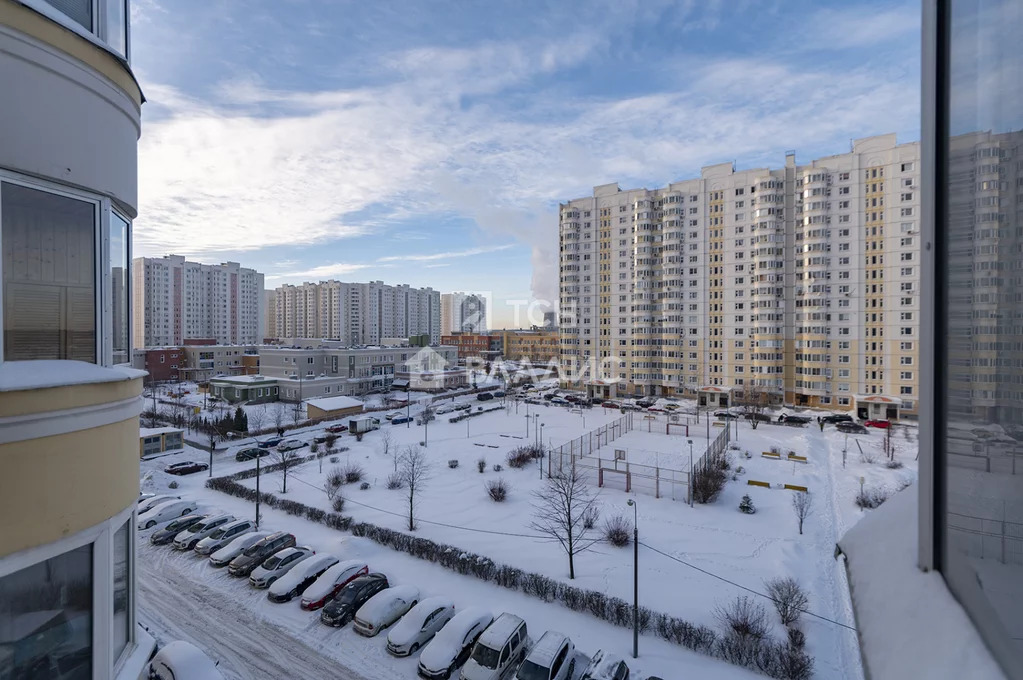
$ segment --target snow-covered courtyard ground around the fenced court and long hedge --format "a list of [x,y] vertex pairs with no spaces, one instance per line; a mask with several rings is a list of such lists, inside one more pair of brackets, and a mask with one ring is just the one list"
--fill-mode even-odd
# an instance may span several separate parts
[[[492,405],[495,402],[484,404],[485,407]],[[543,423],[543,439],[559,446],[620,417],[621,413],[605,412],[601,408],[584,410],[582,413],[549,406],[529,408],[531,415],[538,412],[540,417],[530,418],[528,439],[525,404],[519,405],[518,413],[513,406],[458,423],[448,423],[447,415],[439,416],[437,421],[430,423],[429,443],[425,451],[432,464],[431,479],[425,485],[416,505],[416,533],[485,554],[497,562],[568,581],[567,558],[560,547],[531,538],[535,535],[529,528],[534,513],[531,492],[543,484],[539,469],[536,466],[507,469],[505,455],[511,448],[534,439],[537,420]],[[639,414],[635,417],[637,427],[644,428],[647,425],[640,423],[646,421],[639,419]],[[663,420],[661,422],[660,432],[663,433]],[[357,522],[370,522],[403,530],[407,504],[405,492],[388,490],[385,481],[394,469],[395,452],[400,454],[405,447],[428,438],[424,427],[414,423],[411,426],[385,424],[384,428],[366,435],[362,442],[356,442],[355,438],[349,436],[339,439],[338,445],[348,446],[350,450],[338,454],[338,464],[348,461],[358,463],[364,468],[365,479],[370,483],[370,488],[365,491],[359,490],[358,485],[345,487],[347,501],[344,511]],[[687,439],[694,440],[696,456],[700,455],[706,445],[705,423],[693,425],[690,438],[657,434],[653,432],[654,426],[651,429],[650,433],[633,430],[602,449],[601,454],[611,457],[614,449],[623,448],[633,462],[657,462],[661,465],[670,463],[670,466],[676,467],[684,461],[687,468]],[[317,427],[309,427],[291,435],[311,439],[313,434],[319,432]],[[711,437],[716,437],[718,432],[719,428],[712,428]],[[390,433],[392,440],[387,453],[385,433]],[[655,551],[641,548],[639,599],[641,604],[656,611],[719,628],[714,609],[733,600],[737,595],[745,594],[738,586],[762,592],[764,580],[793,576],[807,589],[811,611],[825,619],[852,625],[844,571],[833,556],[835,543],[847,528],[862,516],[863,511],[853,503],[860,488],[860,478],[864,478],[866,487],[884,485],[892,489],[916,478],[915,435],[915,427],[902,426],[899,427],[899,434],[892,438],[896,446],[896,458],[904,463],[901,469],[889,469],[883,464],[884,457],[880,452],[883,430],[872,429],[866,435],[849,436],[849,449],[843,467],[842,451],[846,446],[846,437],[831,425],[824,433],[815,423],[803,428],[762,424],[753,430],[749,423],[742,422],[738,428],[740,448],[731,451],[733,461],[732,470],[729,471],[729,474],[736,473],[737,479],[729,480],[724,492],[714,503],[691,508],[684,502],[671,500],[670,497],[656,499],[652,495],[626,494],[609,485],[599,490],[602,519],[622,513],[631,520],[632,508],[626,506],[626,500],[633,498],[637,503],[640,541],[706,572],[691,569]],[[861,456],[856,446],[857,441],[866,453],[865,456]],[[771,447],[777,447],[783,458],[789,451],[793,451],[797,455],[807,456],[808,462],[803,464],[762,458],[760,453],[769,451]],[[751,454],[748,459],[745,457],[746,451]],[[306,449],[300,451],[303,454],[306,452]],[[206,460],[206,456],[205,452],[186,451],[155,461],[143,461],[143,471],[162,468],[176,460]],[[477,471],[476,461],[479,458],[487,461],[484,473]],[[864,459],[870,458],[874,458],[875,462],[864,462]],[[456,468],[448,467],[448,460],[451,459],[458,460]],[[226,474],[253,464],[235,463],[232,452],[218,453],[215,473]],[[492,469],[494,464],[504,465],[505,469],[496,472]],[[738,466],[742,466],[742,472],[738,472]],[[323,472],[320,473],[318,464],[311,461],[293,470],[288,477],[286,498],[328,508],[322,488],[324,475],[331,467],[333,464],[324,460]],[[484,489],[485,481],[498,478],[510,485],[508,499],[504,503],[491,501]],[[170,479],[162,472],[152,472],[143,488],[147,491],[162,491],[166,489]],[[748,486],[748,480],[807,487],[813,498],[813,513],[807,518],[804,534],[800,536],[798,532],[791,507],[792,492]],[[202,473],[180,479],[179,491],[194,495],[206,503],[238,516],[253,513],[251,504],[203,488],[205,481],[206,477]],[[254,486],[255,481],[248,480],[244,484]],[[264,491],[279,494],[279,472],[262,480]],[[738,510],[742,496],[747,493],[757,507],[757,512],[753,515],[743,514]],[[558,604],[543,603],[471,577],[450,573],[443,568],[304,519],[272,510],[266,510],[265,515],[271,529],[292,530],[299,536],[300,543],[309,543],[317,550],[339,550],[345,557],[366,557],[372,569],[387,573],[395,582],[413,583],[430,594],[452,595],[460,606],[487,604],[495,611],[516,611],[524,616],[531,626],[540,627],[540,630],[532,629],[534,637],[538,637],[543,629],[552,628],[573,637],[578,647],[587,653],[592,653],[598,647],[612,648],[623,656],[628,656],[631,651],[628,630],[572,613]],[[153,548],[150,551],[146,545],[140,552],[139,559],[153,558],[151,552],[157,550],[163,549]],[[173,555],[166,559],[173,563],[180,561],[181,564],[173,569],[185,570],[190,578],[202,580],[210,588],[223,589],[225,596],[237,598],[239,603],[251,607],[257,616],[279,619],[285,630],[312,635],[312,639],[306,639],[307,644],[320,651],[326,650],[324,653],[336,649],[331,640],[340,639],[339,635],[345,636],[344,648],[352,645],[358,647],[364,643],[374,644],[371,640],[363,641],[347,631],[328,631],[318,621],[314,622],[314,617],[298,609],[297,604],[294,607],[274,605],[266,601],[262,594],[258,597],[255,594],[250,596],[248,585],[220,577],[212,570],[194,562],[190,556]],[[631,548],[617,549],[598,544],[577,557],[576,574],[574,585],[631,601]],[[764,600],[764,604],[771,621],[775,621],[770,602]],[[291,611],[293,608],[294,611]],[[816,661],[815,677],[861,677],[856,639],[852,631],[805,616],[801,620],[801,627],[807,636],[808,651]],[[776,636],[781,635],[781,626],[776,625],[773,632]],[[348,637],[353,638],[351,645],[347,644]],[[393,666],[395,673],[407,673],[401,670],[406,665],[409,669],[414,668],[414,664],[408,660],[391,660],[384,652],[382,641],[377,641],[376,646],[371,649],[379,652],[380,659],[373,663],[382,664],[381,668],[392,668],[389,664],[396,665]],[[369,650],[365,653],[368,654]],[[340,659],[356,672],[366,674],[367,669],[372,669],[369,677],[390,677],[376,673],[375,666],[362,667],[360,671],[360,656],[349,659],[342,654]],[[749,676],[745,671],[694,654],[649,635],[640,639],[640,658],[635,662],[630,660],[630,666],[634,671],[641,672],[639,677],[643,677],[643,674],[657,674],[664,678],[687,675],[681,669],[712,674],[714,677]]]

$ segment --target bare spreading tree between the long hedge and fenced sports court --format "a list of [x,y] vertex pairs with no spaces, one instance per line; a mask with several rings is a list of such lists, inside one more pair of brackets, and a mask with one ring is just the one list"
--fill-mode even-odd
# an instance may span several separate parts
[[547,478],[541,489],[533,492],[533,520],[530,528],[557,541],[569,556],[569,578],[575,578],[575,556],[601,540],[591,535],[585,517],[596,501],[592,489],[572,465]]

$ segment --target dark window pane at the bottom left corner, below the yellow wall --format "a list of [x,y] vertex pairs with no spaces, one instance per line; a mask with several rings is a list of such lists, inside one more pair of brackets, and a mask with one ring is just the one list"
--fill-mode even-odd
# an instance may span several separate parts
[[91,678],[92,545],[0,578],[0,678]]

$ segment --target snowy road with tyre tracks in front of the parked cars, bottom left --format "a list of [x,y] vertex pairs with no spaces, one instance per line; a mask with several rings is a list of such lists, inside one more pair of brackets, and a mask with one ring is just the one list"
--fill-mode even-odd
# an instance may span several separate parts
[[[148,552],[149,554],[144,554]],[[367,680],[339,662],[302,644],[282,628],[204,584],[196,584],[179,559],[149,559],[140,546],[138,619],[160,640],[188,640],[220,661],[237,680],[341,678]]]

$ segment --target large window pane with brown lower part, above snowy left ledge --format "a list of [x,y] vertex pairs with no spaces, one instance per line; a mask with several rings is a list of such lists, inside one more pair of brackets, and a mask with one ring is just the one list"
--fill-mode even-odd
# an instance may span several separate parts
[[96,209],[0,183],[3,353],[96,361]]

